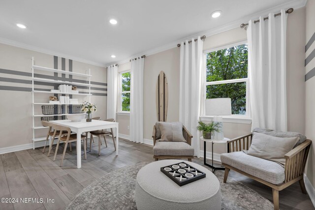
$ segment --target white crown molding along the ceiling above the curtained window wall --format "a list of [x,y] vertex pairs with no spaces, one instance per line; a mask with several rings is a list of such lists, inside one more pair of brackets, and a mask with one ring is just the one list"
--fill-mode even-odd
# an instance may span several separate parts
[[146,56],[154,55],[154,54],[163,52],[165,50],[169,50],[171,48],[175,48],[175,47],[177,47],[177,44],[181,43],[182,41],[189,40],[189,39],[192,39],[192,38],[196,38],[197,36],[205,35],[205,36],[208,37],[208,36],[212,36],[212,35],[215,35],[215,34],[218,34],[218,33],[224,32],[224,31],[227,31],[227,30],[235,29],[237,27],[240,27],[240,25],[242,23],[248,23],[249,20],[258,19],[259,16],[266,16],[270,12],[278,12],[278,11],[280,11],[283,8],[288,9],[288,8],[292,7],[293,9],[298,9],[298,8],[304,7],[306,5],[306,2],[307,2],[307,0],[291,0],[289,2],[286,2],[286,3],[280,4],[280,5],[271,7],[269,9],[265,9],[263,11],[260,11],[259,13],[248,15],[248,16],[246,16],[244,18],[241,18],[239,20],[233,21],[231,23],[228,23],[228,24],[225,24],[225,25],[221,25],[221,26],[216,27],[214,29],[205,30],[205,31],[193,34],[191,36],[179,39],[177,41],[168,43],[166,45],[163,45],[163,46],[160,46],[160,47],[148,50],[148,51],[144,51],[144,52],[142,52],[142,53],[140,53],[138,55],[131,56],[128,59],[120,60],[118,62],[108,63],[108,64],[106,64],[106,66],[113,65],[113,64],[116,64],[116,63],[118,63],[118,64],[126,63],[126,62],[129,62],[130,59],[135,58],[135,57],[139,57],[140,55],[141,56],[142,55],[146,55]]

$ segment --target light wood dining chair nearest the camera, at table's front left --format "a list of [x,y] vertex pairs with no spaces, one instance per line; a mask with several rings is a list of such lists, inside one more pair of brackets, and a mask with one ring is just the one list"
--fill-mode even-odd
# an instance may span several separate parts
[[[60,142],[63,141],[65,143],[64,149],[63,149],[63,157],[62,157],[61,163],[60,163],[60,166],[63,166],[63,158],[65,155],[65,151],[67,149],[67,145],[68,145],[68,143],[70,143],[69,145],[70,145],[70,150],[71,150],[71,142],[77,141],[77,134],[76,133],[71,134],[71,129],[69,127],[66,127],[66,126],[53,124],[53,128],[55,130],[60,131],[58,142],[57,142],[57,147],[56,147],[56,151],[55,151],[54,161],[56,160],[56,156],[57,156]],[[81,139],[83,140],[84,158],[87,159],[87,148],[86,148],[87,136],[81,135]]]

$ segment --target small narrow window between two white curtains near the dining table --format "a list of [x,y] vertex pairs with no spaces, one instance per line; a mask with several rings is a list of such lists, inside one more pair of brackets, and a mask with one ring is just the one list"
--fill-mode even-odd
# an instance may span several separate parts
[[120,111],[130,112],[130,71],[120,73]]

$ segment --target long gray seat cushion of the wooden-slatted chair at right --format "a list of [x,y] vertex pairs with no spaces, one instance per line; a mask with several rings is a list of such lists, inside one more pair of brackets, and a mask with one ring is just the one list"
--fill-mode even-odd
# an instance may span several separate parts
[[248,155],[243,151],[223,153],[221,162],[273,184],[284,182],[284,167],[276,162]]

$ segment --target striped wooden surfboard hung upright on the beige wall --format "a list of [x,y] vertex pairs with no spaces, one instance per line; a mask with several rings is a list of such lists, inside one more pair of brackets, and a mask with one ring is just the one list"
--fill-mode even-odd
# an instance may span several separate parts
[[166,122],[168,105],[168,85],[163,71],[158,75],[157,82],[157,117],[158,121]]

